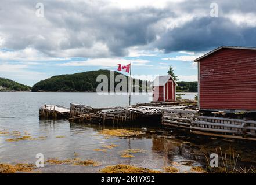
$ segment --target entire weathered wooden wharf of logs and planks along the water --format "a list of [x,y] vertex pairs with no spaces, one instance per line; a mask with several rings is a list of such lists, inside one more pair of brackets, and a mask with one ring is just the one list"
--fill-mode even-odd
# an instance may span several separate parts
[[69,117],[72,122],[95,124],[128,124],[143,117],[161,117],[165,128],[188,130],[192,134],[217,136],[256,141],[256,120],[202,116],[189,102],[144,103],[134,106],[92,108],[80,104],[70,104],[70,109],[60,105],[44,105],[39,109],[41,118]]

